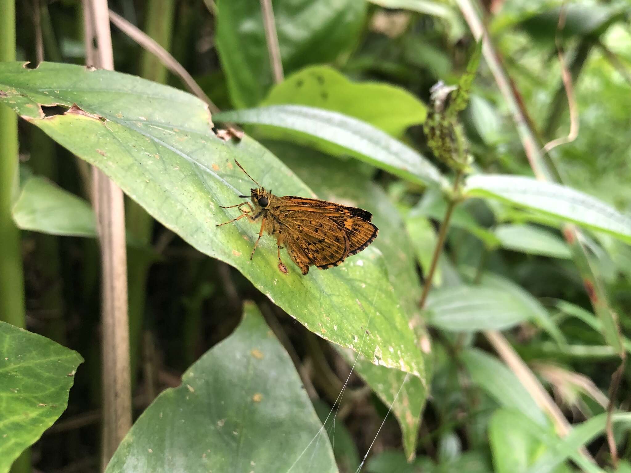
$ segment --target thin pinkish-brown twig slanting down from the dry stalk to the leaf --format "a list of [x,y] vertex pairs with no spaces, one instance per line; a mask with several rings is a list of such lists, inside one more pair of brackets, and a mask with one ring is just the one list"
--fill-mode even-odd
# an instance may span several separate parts
[[206,95],[198,83],[196,83],[195,79],[192,78],[191,74],[189,74],[186,69],[184,69],[184,66],[177,62],[175,57],[173,57],[166,49],[160,46],[146,33],[136,28],[136,26],[129,23],[129,21],[125,20],[125,18],[122,18],[122,16],[114,13],[114,11],[110,10],[109,15],[110,20],[115,26],[117,26],[117,28],[119,28],[119,30],[141,45],[144,49],[151,52],[151,54],[154,54],[169,71],[182,79],[182,82],[187,86],[191,93],[208,103],[208,108],[211,112],[213,112],[213,114],[220,111],[215,103],[210,100],[210,97]]

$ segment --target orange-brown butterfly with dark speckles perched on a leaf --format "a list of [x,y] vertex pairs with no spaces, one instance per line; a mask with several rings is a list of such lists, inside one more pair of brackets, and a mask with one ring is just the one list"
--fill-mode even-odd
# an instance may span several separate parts
[[309,272],[309,266],[329,269],[342,264],[350,255],[368,247],[379,230],[370,223],[372,214],[357,207],[348,207],[334,202],[308,199],[297,196],[274,196],[256,182],[235,160],[237,166],[256,184],[250,189],[250,196],[239,196],[250,201],[222,209],[237,207],[241,214],[237,218],[220,223],[226,225],[242,218],[261,222],[259,238],[254,243],[250,259],[259,244],[263,232],[276,237],[278,268],[287,272],[280,257],[280,250],[286,248],[289,257],[300,268],[302,274]]

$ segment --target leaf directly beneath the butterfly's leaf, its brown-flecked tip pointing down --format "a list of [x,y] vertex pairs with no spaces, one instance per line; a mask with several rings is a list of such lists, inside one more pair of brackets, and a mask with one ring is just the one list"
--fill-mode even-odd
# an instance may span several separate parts
[[[419,344],[423,356],[426,357],[425,369],[430,371],[431,358],[423,351],[423,347],[429,351],[430,341],[425,328],[420,325],[418,309],[420,279],[411,257],[411,243],[396,207],[379,186],[363,175],[357,162],[339,161],[318,151],[287,143],[266,142],[266,145],[276,155],[283,156],[283,161],[295,169],[298,177],[304,179],[320,197],[371,209],[372,221],[380,229],[374,246],[387,261],[388,276],[404,313],[410,321],[416,321],[416,337],[421,341]],[[377,396],[392,407],[392,414],[398,419],[403,433],[403,447],[408,457],[413,458],[420,414],[427,399],[427,388],[422,380],[406,375],[403,371],[372,365],[367,359],[357,357],[352,352],[349,354],[342,349],[339,351]]]

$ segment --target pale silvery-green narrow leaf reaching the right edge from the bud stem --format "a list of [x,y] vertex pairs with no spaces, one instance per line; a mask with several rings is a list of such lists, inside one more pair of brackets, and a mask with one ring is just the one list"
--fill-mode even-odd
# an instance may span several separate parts
[[593,230],[610,233],[631,243],[631,218],[595,197],[534,178],[511,175],[472,175],[466,197],[492,197],[536,210]]

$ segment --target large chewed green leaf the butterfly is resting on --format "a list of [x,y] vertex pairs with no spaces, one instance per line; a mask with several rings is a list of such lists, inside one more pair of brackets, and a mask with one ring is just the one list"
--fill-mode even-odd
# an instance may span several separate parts
[[[216,227],[239,214],[219,206],[239,202],[237,196],[252,187],[233,165],[235,158],[277,194],[314,194],[256,141],[247,136],[229,142],[216,137],[203,102],[126,74],[69,64],[43,63],[30,70],[18,62],[3,63],[0,90],[1,101],[101,168],[193,247],[237,267],[305,327],[360,351],[373,363],[425,380],[415,334],[375,247],[328,271],[312,269],[302,276],[288,264],[290,271],[283,274],[277,268],[273,238],[262,238],[254,259],[249,259],[259,228],[244,219]],[[40,103],[77,103],[80,108],[42,118]],[[285,252],[283,257],[288,261]],[[364,336],[366,330],[369,334]],[[396,347],[394,353],[391,346]]]

